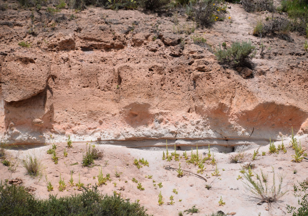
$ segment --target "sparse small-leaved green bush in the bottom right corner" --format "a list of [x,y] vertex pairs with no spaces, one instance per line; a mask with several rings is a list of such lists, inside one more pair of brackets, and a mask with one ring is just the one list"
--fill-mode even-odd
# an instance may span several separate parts
[[308,215],[308,179],[299,183],[299,186],[294,185],[294,196],[298,197],[298,204],[300,207],[296,210],[294,206],[287,205],[288,213],[293,216],[306,216]]

